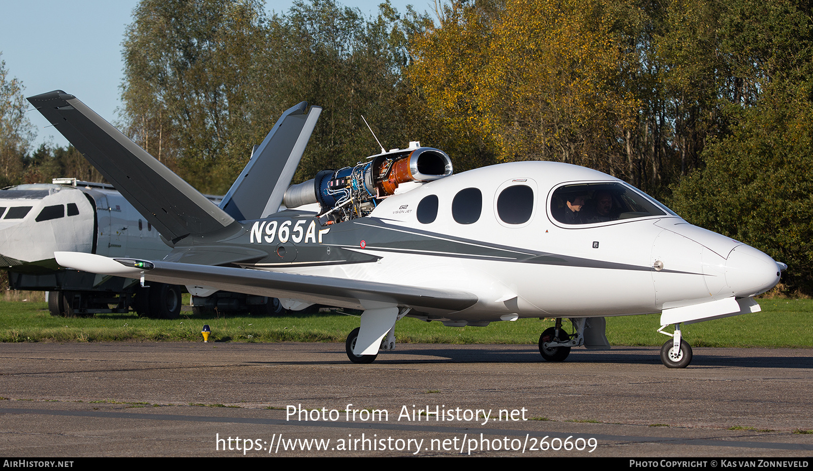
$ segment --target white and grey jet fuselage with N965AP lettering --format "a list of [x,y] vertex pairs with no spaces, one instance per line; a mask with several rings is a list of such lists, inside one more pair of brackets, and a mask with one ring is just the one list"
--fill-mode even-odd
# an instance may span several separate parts
[[[523,187],[510,191],[524,201],[501,203],[511,187]],[[627,212],[567,224],[554,214],[554,196],[563,187],[588,196],[592,191],[593,198],[616,187],[628,192],[626,198],[648,198],[588,168],[500,164],[394,194],[370,216],[322,225],[315,213],[287,210],[245,221],[241,233],[223,242],[265,254],[239,263],[246,268],[465,290],[478,302],[461,312],[411,315],[474,325],[512,314],[659,312],[753,296],[779,279],[767,255],[689,225],[656,202],[647,207],[659,214]],[[428,215],[421,207],[426,201],[432,206]]]

